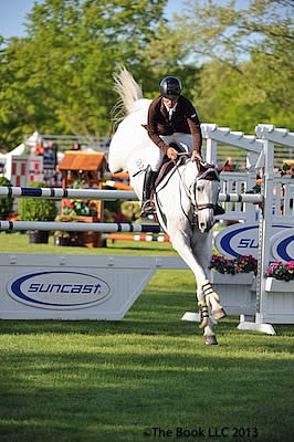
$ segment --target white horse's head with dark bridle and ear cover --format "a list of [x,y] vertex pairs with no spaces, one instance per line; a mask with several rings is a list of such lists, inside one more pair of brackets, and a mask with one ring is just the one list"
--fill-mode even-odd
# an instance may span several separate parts
[[220,178],[218,169],[213,165],[203,164],[199,160],[193,162],[197,176],[193,178],[191,197],[195,204],[198,228],[200,232],[208,232],[213,225],[213,215],[218,204],[220,192]]

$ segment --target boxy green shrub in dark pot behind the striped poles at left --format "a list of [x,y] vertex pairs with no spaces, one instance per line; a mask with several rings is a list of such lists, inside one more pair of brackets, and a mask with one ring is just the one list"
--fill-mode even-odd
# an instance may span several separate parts
[[[43,181],[30,182],[28,187],[46,187]],[[19,219],[21,221],[53,221],[56,215],[56,204],[54,200],[41,198],[22,198],[19,201]],[[31,230],[29,232],[30,243],[48,243],[49,232]]]

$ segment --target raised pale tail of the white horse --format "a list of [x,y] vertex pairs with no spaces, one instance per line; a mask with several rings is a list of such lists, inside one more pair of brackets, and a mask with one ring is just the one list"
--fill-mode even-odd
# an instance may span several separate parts
[[114,90],[120,96],[120,106],[124,107],[126,114],[130,114],[135,110],[136,102],[143,98],[141,88],[123,65],[119,66],[119,72],[114,74]]

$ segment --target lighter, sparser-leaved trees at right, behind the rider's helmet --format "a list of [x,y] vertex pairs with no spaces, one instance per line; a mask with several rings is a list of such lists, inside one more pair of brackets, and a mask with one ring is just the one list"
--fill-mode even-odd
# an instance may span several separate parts
[[[254,131],[258,123],[293,129],[291,0],[190,0],[146,48],[155,72],[198,65],[190,94],[202,120]],[[180,71],[181,70],[181,71]]]

